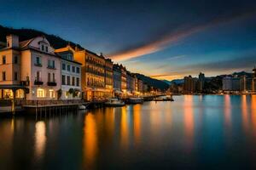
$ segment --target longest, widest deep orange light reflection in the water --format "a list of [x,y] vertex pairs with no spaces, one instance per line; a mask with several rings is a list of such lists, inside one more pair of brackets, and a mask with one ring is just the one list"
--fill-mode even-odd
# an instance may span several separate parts
[[95,165],[97,146],[97,130],[95,116],[88,114],[84,116],[84,161],[89,169]]

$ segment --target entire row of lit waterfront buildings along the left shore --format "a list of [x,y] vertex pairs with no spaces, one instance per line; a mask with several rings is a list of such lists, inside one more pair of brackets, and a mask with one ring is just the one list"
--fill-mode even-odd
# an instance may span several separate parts
[[[0,99],[106,99],[139,95],[146,84],[123,65],[90,50],[52,48],[46,37],[0,43]],[[15,94],[15,95],[14,95]]]

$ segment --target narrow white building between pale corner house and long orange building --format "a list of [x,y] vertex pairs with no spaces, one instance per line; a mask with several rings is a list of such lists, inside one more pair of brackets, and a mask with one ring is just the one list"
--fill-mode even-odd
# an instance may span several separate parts
[[81,64],[73,59],[75,50],[67,45],[55,53],[61,56],[60,99],[81,99]]

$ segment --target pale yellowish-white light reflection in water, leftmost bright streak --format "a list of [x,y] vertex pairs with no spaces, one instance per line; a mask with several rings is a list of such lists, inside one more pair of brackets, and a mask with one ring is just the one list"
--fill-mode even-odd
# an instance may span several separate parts
[[46,143],[45,130],[46,130],[45,122],[40,121],[36,123],[35,152],[38,158],[44,155],[44,148]]

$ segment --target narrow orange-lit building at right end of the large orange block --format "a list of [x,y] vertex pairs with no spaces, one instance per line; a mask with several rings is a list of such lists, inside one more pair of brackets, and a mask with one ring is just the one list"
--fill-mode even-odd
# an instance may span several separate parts
[[105,59],[105,88],[106,97],[113,97],[113,61]]

